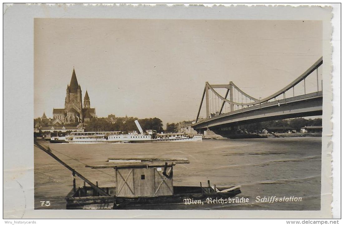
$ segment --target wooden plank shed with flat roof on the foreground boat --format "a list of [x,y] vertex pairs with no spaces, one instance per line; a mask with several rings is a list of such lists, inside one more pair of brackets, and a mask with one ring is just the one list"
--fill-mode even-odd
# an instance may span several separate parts
[[181,163],[189,160],[109,158],[107,165],[89,167],[114,168],[118,197],[154,197],[173,194],[173,166]]

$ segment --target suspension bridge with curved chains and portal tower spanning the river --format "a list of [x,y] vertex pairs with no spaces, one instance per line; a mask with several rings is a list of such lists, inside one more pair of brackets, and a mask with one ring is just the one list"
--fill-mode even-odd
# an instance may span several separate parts
[[[201,132],[207,128],[218,129],[256,122],[322,115],[322,77],[319,77],[319,68],[322,63],[321,57],[286,87],[264,99],[248,95],[232,81],[224,85],[211,85],[205,82],[196,123],[191,127]],[[309,87],[307,92],[306,87]],[[299,92],[295,92],[296,88]],[[219,94],[218,90],[222,90],[225,93],[224,96]],[[287,97],[287,94],[290,97]],[[205,118],[201,118],[204,99]]]

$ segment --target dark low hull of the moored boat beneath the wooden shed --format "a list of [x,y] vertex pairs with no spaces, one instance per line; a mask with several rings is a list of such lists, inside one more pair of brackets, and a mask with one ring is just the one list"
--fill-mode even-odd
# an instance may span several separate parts
[[[188,209],[189,205],[210,206],[209,201],[233,198],[241,191],[239,188],[228,192],[206,192],[207,188],[202,187],[173,187],[173,195],[154,196],[154,197],[116,197],[116,196],[74,196],[80,192],[73,190],[66,196],[66,209],[159,209],[159,210],[178,210]],[[112,188],[115,189],[115,188]],[[225,190],[228,188],[220,188]],[[107,189],[108,190],[108,189]],[[82,191],[81,191],[82,192]],[[77,195],[77,194],[76,194]],[[235,200],[233,200],[235,201]],[[220,203],[221,204],[221,203]],[[228,203],[226,203],[228,204]],[[186,208],[185,208],[186,207]],[[192,208],[190,208],[192,209]]]

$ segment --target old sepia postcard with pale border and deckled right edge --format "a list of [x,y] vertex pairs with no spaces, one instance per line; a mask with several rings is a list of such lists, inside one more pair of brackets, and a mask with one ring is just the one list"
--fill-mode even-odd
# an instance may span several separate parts
[[8,7],[4,217],[331,218],[331,10]]

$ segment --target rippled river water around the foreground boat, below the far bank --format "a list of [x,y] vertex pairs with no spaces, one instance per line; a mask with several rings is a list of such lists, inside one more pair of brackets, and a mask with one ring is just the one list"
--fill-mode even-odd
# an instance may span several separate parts
[[[203,140],[179,143],[50,144],[52,152],[100,187],[114,187],[114,169],[90,169],[109,157],[188,158],[190,164],[173,168],[175,186],[217,187],[241,185],[249,203],[182,205],[178,209],[320,210],[321,137]],[[71,159],[71,158],[73,159]],[[74,160],[76,159],[76,160]],[[65,209],[72,173],[52,157],[34,148],[35,209]],[[82,186],[81,179],[76,180]],[[256,202],[268,198],[302,198],[298,202]],[[41,206],[50,201],[50,206]],[[144,209],[144,208],[142,208]],[[176,209],[171,207],[171,209]]]

